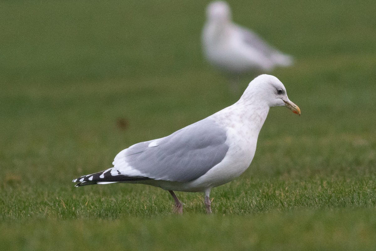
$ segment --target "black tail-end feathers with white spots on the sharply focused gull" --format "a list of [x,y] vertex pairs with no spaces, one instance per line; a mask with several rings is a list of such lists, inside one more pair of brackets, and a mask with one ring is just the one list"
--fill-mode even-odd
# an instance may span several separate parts
[[114,175],[113,168],[114,167],[101,171],[101,172],[81,176],[77,179],[74,179],[72,182],[74,183],[78,182],[74,186],[80,187],[80,186],[94,185],[94,184],[110,184],[110,183],[118,183],[118,182],[127,183],[131,181],[150,180],[150,178],[148,177],[128,176],[128,175],[120,174],[120,172],[117,172]]

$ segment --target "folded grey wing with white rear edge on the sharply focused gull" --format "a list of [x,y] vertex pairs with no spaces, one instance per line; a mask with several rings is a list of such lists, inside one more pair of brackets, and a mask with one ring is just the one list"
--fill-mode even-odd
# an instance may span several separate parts
[[141,142],[121,151],[111,174],[155,180],[196,180],[220,163],[229,146],[226,129],[204,119],[173,134]]

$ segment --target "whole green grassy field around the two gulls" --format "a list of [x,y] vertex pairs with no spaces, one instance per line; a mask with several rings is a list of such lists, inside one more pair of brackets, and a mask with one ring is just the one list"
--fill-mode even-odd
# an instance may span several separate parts
[[376,3],[229,3],[296,58],[271,74],[302,116],[271,109],[211,216],[201,193],[176,216],[155,187],[71,183],[239,98],[202,58],[207,2],[0,3],[1,249],[375,249]]

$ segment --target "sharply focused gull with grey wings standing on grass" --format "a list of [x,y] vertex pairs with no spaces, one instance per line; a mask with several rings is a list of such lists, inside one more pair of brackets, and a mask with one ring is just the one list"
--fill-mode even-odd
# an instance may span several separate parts
[[210,190],[240,176],[251,164],[256,143],[269,109],[286,106],[300,115],[287,97],[282,82],[271,75],[253,79],[240,99],[221,111],[188,125],[171,135],[149,140],[119,152],[114,167],[76,178],[75,186],[109,183],[141,183],[167,190],[203,192],[211,213]]

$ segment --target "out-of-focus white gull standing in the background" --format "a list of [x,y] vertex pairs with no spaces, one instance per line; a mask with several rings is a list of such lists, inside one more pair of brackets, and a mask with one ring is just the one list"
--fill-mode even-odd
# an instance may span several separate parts
[[267,44],[256,33],[231,21],[226,2],[212,2],[206,9],[202,32],[203,52],[208,61],[230,76],[253,71],[271,71],[293,63],[286,55]]

